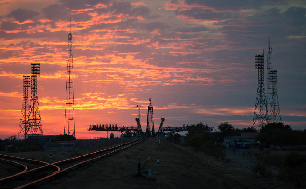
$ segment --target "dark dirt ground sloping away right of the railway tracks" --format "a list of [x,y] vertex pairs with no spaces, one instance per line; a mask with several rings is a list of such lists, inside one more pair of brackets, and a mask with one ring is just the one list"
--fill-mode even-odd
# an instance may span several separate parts
[[[110,140],[110,139],[109,139]],[[143,171],[135,177],[138,158]],[[159,158],[159,163],[157,163]],[[39,188],[293,188],[279,180],[255,175],[235,162],[224,162],[202,152],[149,138],[126,151],[93,162]]]

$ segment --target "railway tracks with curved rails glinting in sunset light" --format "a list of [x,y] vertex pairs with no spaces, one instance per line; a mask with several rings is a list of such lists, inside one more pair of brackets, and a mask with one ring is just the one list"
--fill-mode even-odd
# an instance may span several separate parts
[[[21,163],[21,161],[31,162],[32,164],[40,163],[44,165],[36,166],[35,168],[31,169],[29,169],[28,166],[25,166],[26,168],[24,167],[24,170],[22,170],[20,173],[0,179],[0,188],[33,188],[35,186],[44,184],[50,180],[60,178],[61,175],[65,175],[81,166],[87,165],[99,159],[103,159],[105,157],[113,155],[116,152],[125,150],[145,139],[146,138],[137,139],[128,143],[114,146],[112,148],[99,150],[97,152],[88,153],[75,158],[65,159],[54,163],[6,156],[7,161],[15,162],[16,165],[24,164]],[[5,155],[0,155],[0,157],[5,157]],[[11,159],[14,159],[14,161]],[[32,165],[32,167],[34,167],[34,165]]]

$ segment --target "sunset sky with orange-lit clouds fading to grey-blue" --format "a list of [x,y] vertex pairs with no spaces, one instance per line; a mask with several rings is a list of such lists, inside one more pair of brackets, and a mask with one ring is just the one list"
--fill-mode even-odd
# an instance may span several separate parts
[[[252,126],[269,36],[282,122],[306,126],[306,1],[0,0],[0,138],[18,134],[22,75],[40,63],[44,135],[64,133],[69,17],[75,136],[90,124]],[[266,81],[265,81],[266,83]],[[265,86],[266,87],[266,86]],[[29,90],[30,96],[30,90]]]

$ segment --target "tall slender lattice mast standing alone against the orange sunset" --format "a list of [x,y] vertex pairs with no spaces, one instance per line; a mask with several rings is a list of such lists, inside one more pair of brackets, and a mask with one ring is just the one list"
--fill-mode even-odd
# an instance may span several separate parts
[[67,58],[67,79],[66,79],[66,104],[65,104],[65,125],[64,135],[73,135],[74,130],[74,91],[73,91],[73,61],[72,61],[72,34],[71,29],[68,35],[68,58]]

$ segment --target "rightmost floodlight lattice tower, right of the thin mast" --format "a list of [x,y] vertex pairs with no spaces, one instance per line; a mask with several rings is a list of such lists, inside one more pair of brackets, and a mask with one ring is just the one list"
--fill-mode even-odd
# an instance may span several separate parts
[[281,122],[281,112],[279,110],[277,95],[277,70],[270,70],[270,82],[272,83],[272,102],[270,121]]

